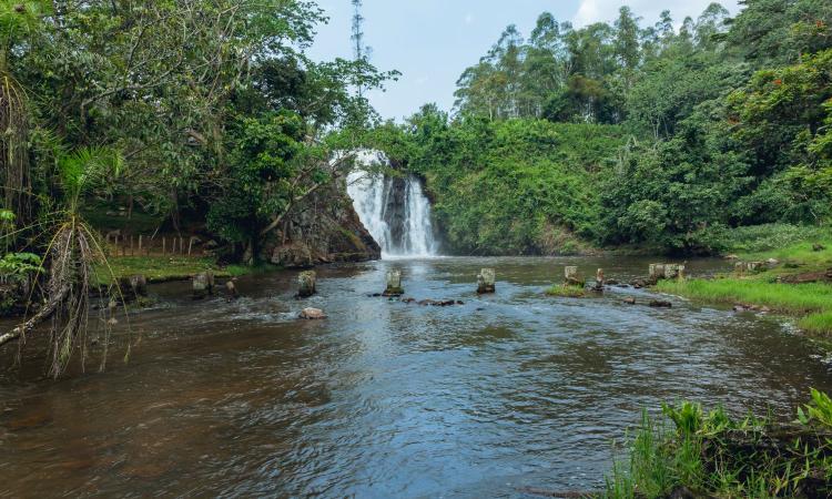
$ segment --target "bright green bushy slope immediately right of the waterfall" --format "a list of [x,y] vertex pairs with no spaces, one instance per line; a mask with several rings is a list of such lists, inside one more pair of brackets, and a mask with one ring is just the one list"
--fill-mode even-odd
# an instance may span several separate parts
[[445,242],[467,254],[586,248],[575,234],[598,238],[595,179],[623,141],[616,126],[478,118],[448,123],[434,108],[373,135],[374,144],[396,144],[386,149],[394,164],[425,176]]

